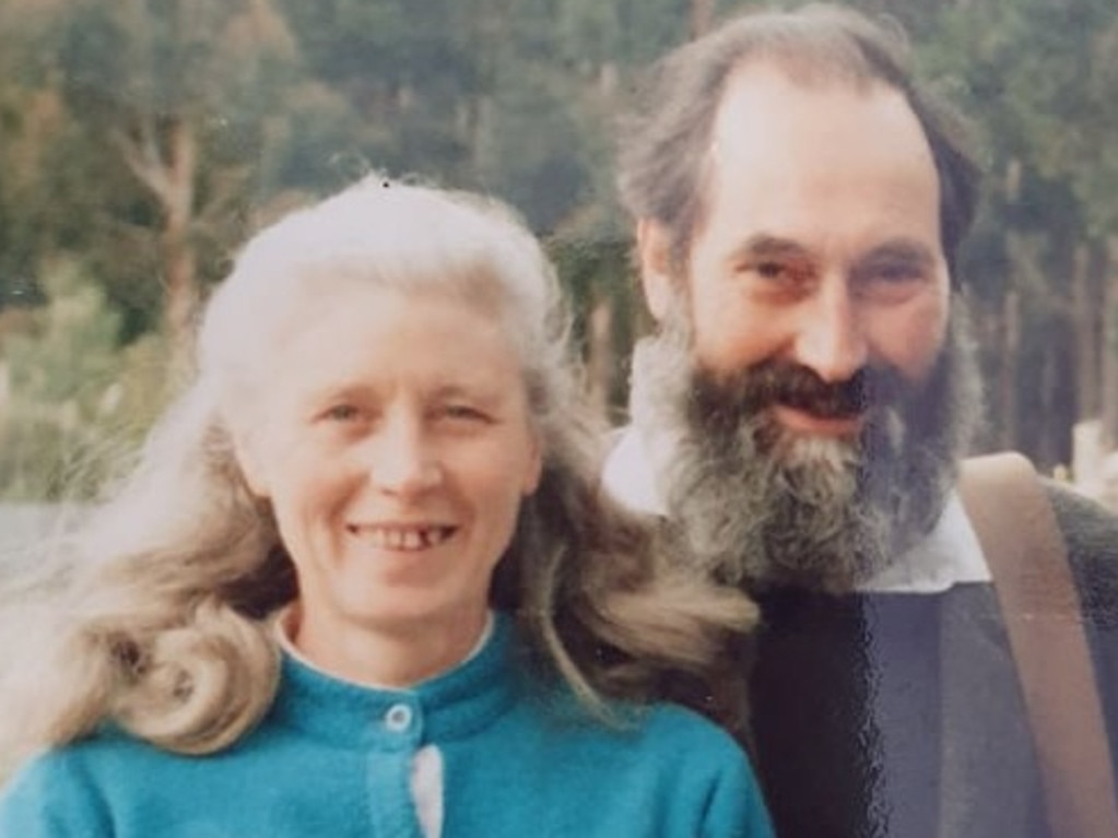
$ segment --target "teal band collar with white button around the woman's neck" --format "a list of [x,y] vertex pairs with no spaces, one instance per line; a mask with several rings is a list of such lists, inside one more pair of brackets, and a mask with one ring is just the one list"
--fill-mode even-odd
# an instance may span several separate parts
[[459,666],[406,689],[337,678],[284,653],[271,715],[339,745],[413,750],[461,739],[492,724],[518,691],[515,629],[498,613],[485,645]]

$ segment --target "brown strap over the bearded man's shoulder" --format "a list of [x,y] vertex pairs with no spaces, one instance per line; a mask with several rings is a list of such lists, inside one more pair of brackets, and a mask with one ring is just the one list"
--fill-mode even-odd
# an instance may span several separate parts
[[1051,832],[1118,837],[1106,724],[1051,504],[1032,464],[1018,454],[966,460],[959,491],[1017,664]]

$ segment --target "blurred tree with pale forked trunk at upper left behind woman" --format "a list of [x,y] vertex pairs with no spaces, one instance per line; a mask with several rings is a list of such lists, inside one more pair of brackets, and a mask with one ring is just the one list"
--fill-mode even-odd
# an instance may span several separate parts
[[230,220],[245,212],[269,153],[267,117],[295,72],[286,23],[269,0],[66,0],[51,22],[45,40],[89,132],[86,155],[141,188],[110,213],[157,231],[161,325],[184,350],[200,254],[220,259],[236,240]]

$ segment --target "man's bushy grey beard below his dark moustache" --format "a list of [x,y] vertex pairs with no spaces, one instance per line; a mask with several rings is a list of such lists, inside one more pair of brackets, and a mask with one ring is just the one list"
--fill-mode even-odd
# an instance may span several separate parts
[[[980,408],[958,294],[929,377],[871,407],[854,441],[781,431],[767,411],[738,411],[731,422],[724,411],[718,418],[697,411],[702,373],[683,321],[637,346],[631,409],[693,561],[754,590],[788,584],[842,592],[932,528]],[[775,444],[759,446],[758,430]]]

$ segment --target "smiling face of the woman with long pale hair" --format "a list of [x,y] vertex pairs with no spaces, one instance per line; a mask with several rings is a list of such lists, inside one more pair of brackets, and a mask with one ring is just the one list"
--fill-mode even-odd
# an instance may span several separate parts
[[358,285],[303,317],[238,435],[295,564],[300,636],[480,626],[541,467],[498,318]]

